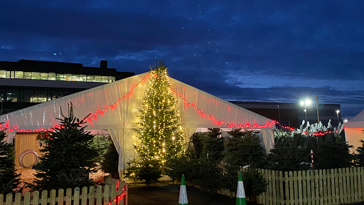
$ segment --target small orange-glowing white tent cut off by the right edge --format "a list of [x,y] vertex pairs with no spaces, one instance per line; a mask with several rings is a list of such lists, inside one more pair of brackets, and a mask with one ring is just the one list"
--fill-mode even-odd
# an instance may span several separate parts
[[355,149],[363,146],[363,143],[361,143],[360,140],[364,140],[364,110],[348,122],[344,123],[344,127],[346,142],[354,146],[351,148],[350,153],[355,152]]

